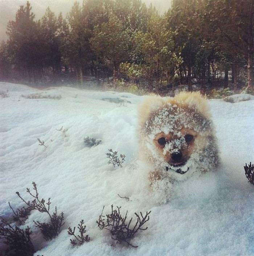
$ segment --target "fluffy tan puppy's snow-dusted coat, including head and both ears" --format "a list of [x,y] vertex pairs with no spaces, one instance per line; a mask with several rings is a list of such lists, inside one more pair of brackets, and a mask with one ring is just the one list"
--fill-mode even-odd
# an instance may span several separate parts
[[139,142],[151,185],[215,170],[219,162],[208,103],[198,92],[148,97],[139,108]]

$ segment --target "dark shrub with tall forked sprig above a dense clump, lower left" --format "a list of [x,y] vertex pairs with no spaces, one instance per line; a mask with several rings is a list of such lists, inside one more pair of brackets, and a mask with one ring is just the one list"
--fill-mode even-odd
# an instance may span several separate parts
[[36,227],[40,228],[41,233],[44,235],[45,240],[50,240],[53,237],[56,237],[59,232],[61,227],[64,225],[64,213],[62,212],[60,215],[57,215],[57,207],[55,208],[55,212],[53,214],[50,214],[49,209],[50,209],[50,198],[48,198],[48,202],[46,202],[43,198],[39,198],[39,194],[37,191],[37,185],[35,182],[32,182],[33,184],[33,189],[35,190],[35,194],[32,194],[30,192],[29,188],[26,188],[26,192],[28,192],[34,200],[32,202],[28,201],[26,202],[21,196],[19,192],[16,192],[16,194],[21,198],[21,200],[28,205],[28,207],[32,210],[38,210],[39,212],[45,212],[48,214],[50,218],[49,223],[45,222],[39,222],[39,221],[34,221],[36,224]]

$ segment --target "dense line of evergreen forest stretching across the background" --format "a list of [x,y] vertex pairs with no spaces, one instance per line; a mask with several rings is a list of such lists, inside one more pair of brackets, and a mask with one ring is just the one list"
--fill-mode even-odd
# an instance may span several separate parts
[[7,25],[0,80],[253,88],[253,19],[254,0],[172,0],[163,15],[141,0],[84,0],[39,20],[27,2]]

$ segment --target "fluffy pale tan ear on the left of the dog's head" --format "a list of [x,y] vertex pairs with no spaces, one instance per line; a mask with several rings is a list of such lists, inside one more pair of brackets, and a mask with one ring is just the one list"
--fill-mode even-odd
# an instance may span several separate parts
[[163,106],[163,103],[163,99],[159,96],[147,97],[138,109],[139,125],[143,126],[149,116],[157,109],[160,109]]

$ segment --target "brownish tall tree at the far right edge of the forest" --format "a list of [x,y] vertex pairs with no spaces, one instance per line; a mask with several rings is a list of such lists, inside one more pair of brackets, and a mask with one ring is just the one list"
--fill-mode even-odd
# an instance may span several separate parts
[[[244,59],[247,86],[253,88],[254,0],[213,0],[207,3],[206,15],[215,29],[221,51],[233,59],[232,73],[237,80],[237,64]],[[234,81],[235,86],[237,82]]]

